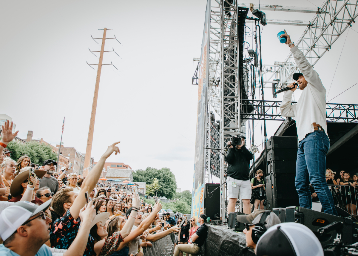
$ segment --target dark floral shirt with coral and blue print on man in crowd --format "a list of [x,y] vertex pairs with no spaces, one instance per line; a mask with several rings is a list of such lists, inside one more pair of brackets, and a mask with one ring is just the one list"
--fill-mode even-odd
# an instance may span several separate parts
[[[69,210],[67,210],[67,212],[61,218],[56,219],[52,225],[50,232],[51,247],[68,249],[77,236],[80,224],[81,220],[79,217],[75,220]],[[93,237],[89,235],[83,256],[96,256],[94,247],[95,242]]]

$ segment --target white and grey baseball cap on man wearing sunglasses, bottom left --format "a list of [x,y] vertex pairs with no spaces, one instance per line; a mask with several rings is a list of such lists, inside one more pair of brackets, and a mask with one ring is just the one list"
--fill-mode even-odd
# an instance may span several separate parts
[[36,205],[28,201],[19,201],[5,208],[0,214],[0,236],[5,241],[17,229],[22,226],[30,217],[45,211],[51,203],[52,199]]

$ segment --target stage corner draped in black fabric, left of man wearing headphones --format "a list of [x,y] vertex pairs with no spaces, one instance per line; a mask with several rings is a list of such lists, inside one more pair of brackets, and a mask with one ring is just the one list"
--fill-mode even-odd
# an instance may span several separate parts
[[246,247],[244,233],[238,233],[227,226],[208,226],[208,238],[202,246],[201,256],[254,256],[255,252],[249,249],[246,253],[240,253]]

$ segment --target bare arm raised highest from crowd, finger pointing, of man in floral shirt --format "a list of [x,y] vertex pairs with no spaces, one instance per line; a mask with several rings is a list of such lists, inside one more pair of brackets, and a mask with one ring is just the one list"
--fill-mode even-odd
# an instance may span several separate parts
[[84,194],[86,192],[89,193],[89,191],[92,191],[95,188],[98,180],[100,179],[106,159],[110,155],[112,155],[113,152],[116,152],[116,155],[117,153],[119,153],[119,148],[116,147],[116,144],[118,143],[120,143],[120,141],[113,143],[111,146],[107,148],[107,151],[101,156],[100,160],[97,162],[95,167],[93,167],[93,169],[86,176],[86,179],[84,179],[81,186],[81,190],[78,193],[78,196],[74,200],[71,208],[69,208],[69,211],[74,219],[78,218],[79,211],[86,204],[86,198],[84,197]]

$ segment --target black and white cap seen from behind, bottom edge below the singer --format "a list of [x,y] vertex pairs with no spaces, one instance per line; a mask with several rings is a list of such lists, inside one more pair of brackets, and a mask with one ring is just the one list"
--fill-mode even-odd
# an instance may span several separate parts
[[321,243],[306,226],[286,222],[267,229],[256,245],[256,255],[324,256]]

